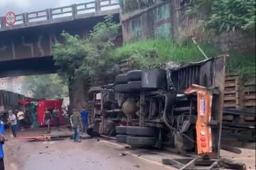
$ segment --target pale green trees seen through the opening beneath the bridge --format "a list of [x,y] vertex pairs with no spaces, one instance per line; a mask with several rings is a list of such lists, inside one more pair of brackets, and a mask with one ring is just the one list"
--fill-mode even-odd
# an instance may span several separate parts
[[68,86],[57,74],[29,76],[24,79],[34,98],[63,98],[68,96]]

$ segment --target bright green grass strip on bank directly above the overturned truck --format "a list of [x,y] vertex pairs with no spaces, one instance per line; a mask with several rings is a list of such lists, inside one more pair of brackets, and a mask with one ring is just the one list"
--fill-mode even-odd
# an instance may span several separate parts
[[[191,40],[192,41],[192,40]],[[203,45],[208,57],[215,57],[217,51]],[[170,40],[141,40],[132,42],[114,50],[114,60],[130,59],[134,61],[135,67],[155,67],[164,62],[196,62],[204,57],[196,45],[191,43],[175,43]]]

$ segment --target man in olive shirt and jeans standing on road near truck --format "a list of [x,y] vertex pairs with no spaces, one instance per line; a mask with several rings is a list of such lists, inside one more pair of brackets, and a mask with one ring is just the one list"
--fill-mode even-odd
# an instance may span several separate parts
[[80,141],[80,134],[79,130],[80,127],[82,127],[81,123],[81,117],[80,114],[76,109],[72,110],[72,115],[70,116],[70,124],[73,130],[73,140],[74,142],[81,142]]

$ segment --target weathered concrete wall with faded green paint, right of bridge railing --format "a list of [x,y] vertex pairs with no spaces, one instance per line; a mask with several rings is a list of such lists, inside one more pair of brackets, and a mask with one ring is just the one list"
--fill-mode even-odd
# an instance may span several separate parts
[[144,38],[171,38],[169,3],[121,14],[124,42]]

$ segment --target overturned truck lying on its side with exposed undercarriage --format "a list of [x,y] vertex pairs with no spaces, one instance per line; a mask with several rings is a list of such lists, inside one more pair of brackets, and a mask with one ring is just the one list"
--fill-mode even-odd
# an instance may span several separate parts
[[90,128],[134,147],[218,156],[224,81],[225,57],[119,74],[90,89]]

